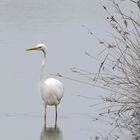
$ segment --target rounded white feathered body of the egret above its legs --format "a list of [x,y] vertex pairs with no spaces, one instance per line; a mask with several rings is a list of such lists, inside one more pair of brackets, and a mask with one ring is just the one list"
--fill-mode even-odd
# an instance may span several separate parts
[[63,94],[63,84],[57,79],[49,78],[41,85],[41,97],[47,105],[58,105]]

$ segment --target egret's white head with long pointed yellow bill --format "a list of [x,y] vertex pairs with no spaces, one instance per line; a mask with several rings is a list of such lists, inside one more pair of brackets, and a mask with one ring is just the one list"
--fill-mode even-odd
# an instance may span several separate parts
[[40,43],[40,44],[32,46],[31,48],[26,49],[26,51],[33,51],[33,50],[46,52],[47,47],[43,43]]

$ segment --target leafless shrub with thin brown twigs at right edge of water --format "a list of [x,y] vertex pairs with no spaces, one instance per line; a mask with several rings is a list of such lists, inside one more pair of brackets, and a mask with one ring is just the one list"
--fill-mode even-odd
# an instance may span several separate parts
[[119,127],[129,129],[140,138],[140,1],[132,15],[125,13],[118,2],[111,0],[117,14],[103,6],[107,21],[114,29],[113,41],[99,41],[105,47],[105,59],[94,77],[96,85],[111,91],[103,100],[109,103],[107,113]]

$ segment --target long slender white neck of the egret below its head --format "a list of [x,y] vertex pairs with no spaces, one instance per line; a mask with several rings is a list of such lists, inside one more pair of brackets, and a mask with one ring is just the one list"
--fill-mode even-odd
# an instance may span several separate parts
[[40,73],[40,82],[44,82],[45,80],[45,66],[46,66],[46,60],[47,60],[47,54],[45,50],[42,50],[43,52],[43,60],[41,64],[41,73]]

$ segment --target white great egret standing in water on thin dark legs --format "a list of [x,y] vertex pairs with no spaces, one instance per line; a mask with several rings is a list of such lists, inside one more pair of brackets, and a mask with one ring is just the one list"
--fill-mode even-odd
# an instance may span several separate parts
[[55,106],[55,127],[57,125],[57,105],[60,103],[61,98],[64,94],[63,84],[54,78],[49,78],[45,80],[45,65],[47,61],[47,47],[44,44],[37,44],[32,46],[26,51],[41,51],[43,52],[43,60],[41,65],[41,74],[40,74],[40,90],[41,97],[44,101],[45,111],[44,111],[44,123],[46,125],[46,113],[47,113],[47,105]]

